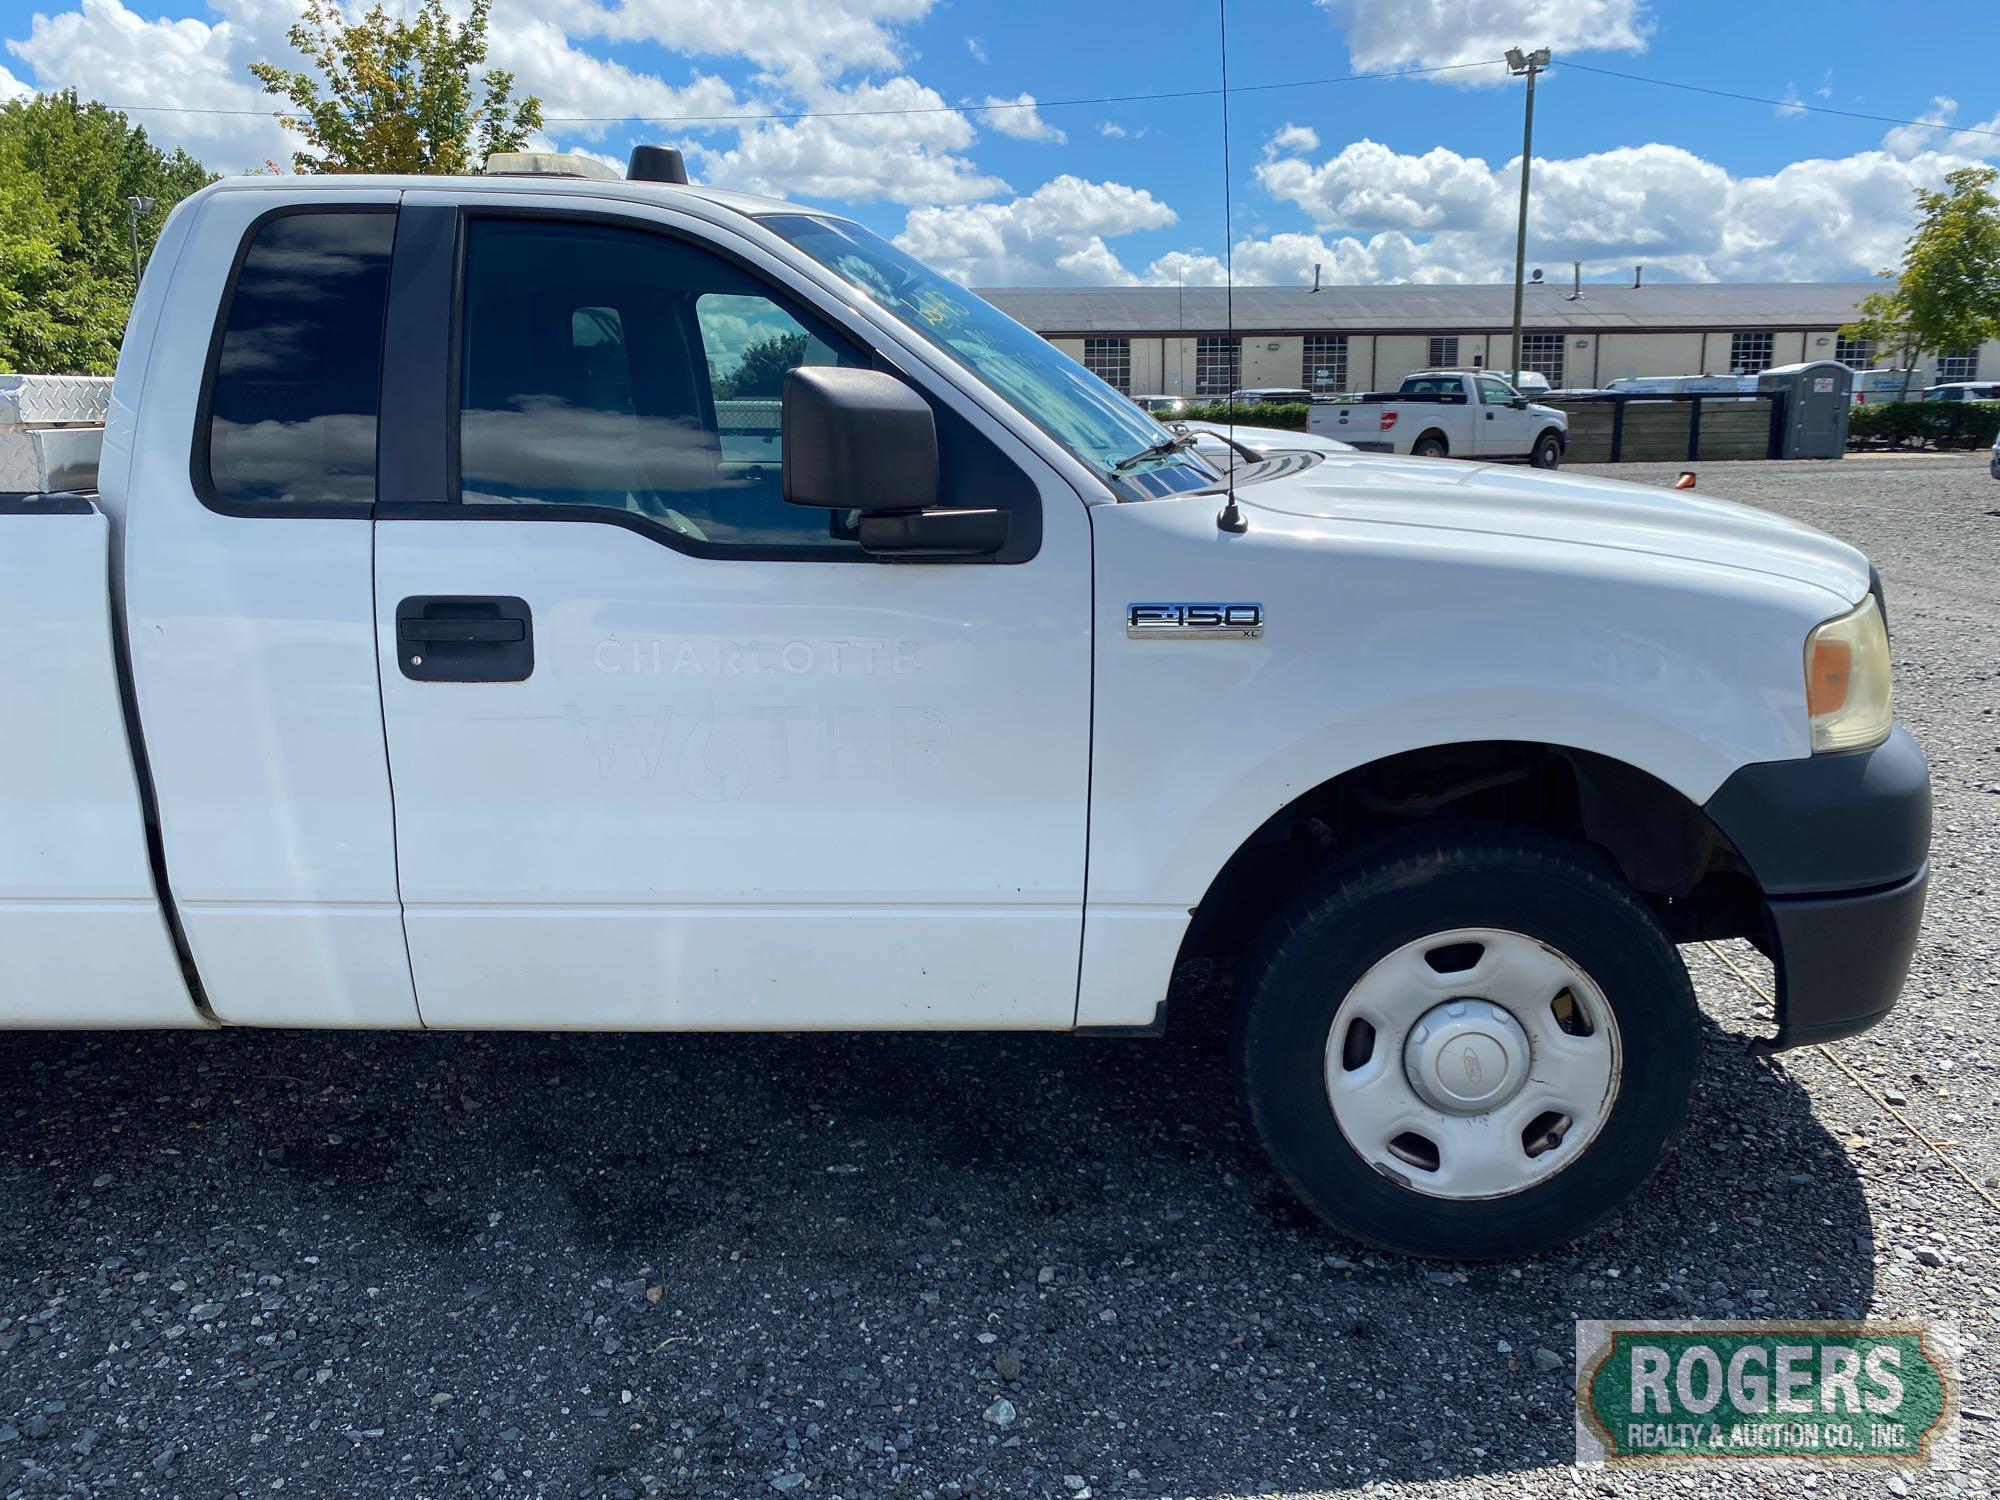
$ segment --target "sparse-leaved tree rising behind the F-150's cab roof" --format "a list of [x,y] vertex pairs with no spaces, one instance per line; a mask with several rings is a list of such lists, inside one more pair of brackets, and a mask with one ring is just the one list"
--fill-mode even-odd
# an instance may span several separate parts
[[444,0],[422,0],[416,20],[380,4],[348,22],[334,0],[306,0],[286,40],[316,72],[252,62],[264,92],[290,102],[278,120],[310,150],[298,172],[468,172],[490,152],[520,150],[542,128],[542,100],[514,100],[514,74],[486,62],[486,12],[472,0],[464,26]]

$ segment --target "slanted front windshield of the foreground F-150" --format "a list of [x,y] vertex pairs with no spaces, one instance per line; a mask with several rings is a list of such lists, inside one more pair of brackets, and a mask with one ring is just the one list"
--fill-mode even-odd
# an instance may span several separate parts
[[[1192,450],[1162,444],[1158,422],[1068,354],[882,236],[812,214],[762,222],[966,366],[1114,490],[1156,496],[1220,480]],[[1160,452],[1128,462],[1156,444]]]

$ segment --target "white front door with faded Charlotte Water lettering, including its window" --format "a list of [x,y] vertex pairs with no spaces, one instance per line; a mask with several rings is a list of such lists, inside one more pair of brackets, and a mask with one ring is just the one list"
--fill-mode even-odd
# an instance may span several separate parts
[[1068,1026],[1078,496],[904,370],[946,502],[1014,540],[878,562],[852,516],[784,502],[780,390],[916,356],[698,220],[418,198],[398,278],[438,278],[408,302],[436,342],[384,432],[410,462],[384,458],[376,620],[424,1022]]

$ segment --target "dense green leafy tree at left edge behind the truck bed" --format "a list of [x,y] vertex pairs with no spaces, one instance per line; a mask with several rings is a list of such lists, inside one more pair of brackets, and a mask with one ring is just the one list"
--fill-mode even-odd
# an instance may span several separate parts
[[74,92],[0,106],[0,370],[110,374],[140,260],[166,210],[210,180],[186,152]]

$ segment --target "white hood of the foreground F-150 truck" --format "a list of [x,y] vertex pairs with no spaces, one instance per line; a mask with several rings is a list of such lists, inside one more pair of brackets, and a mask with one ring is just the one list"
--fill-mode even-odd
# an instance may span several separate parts
[[1246,484],[1240,504],[1288,516],[1486,532],[1648,552],[1816,584],[1858,604],[1868,558],[1810,526],[1624,480],[1452,458],[1326,454],[1302,474]]

